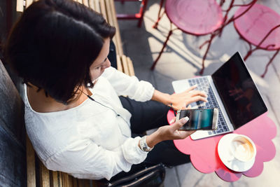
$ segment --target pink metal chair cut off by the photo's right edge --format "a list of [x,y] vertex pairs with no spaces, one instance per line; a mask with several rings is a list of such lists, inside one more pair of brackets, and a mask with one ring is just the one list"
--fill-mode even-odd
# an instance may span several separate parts
[[[244,7],[240,7],[235,17],[238,16]],[[280,15],[261,4],[255,4],[245,15],[235,20],[235,29],[244,41],[249,45],[249,50],[244,60],[246,60],[255,50],[275,50],[265,67],[262,77],[267,73],[269,64],[272,63],[280,51]],[[255,48],[252,48],[252,45]]]

